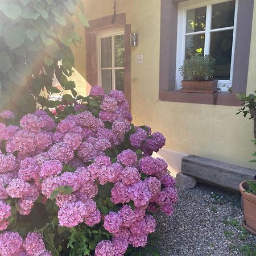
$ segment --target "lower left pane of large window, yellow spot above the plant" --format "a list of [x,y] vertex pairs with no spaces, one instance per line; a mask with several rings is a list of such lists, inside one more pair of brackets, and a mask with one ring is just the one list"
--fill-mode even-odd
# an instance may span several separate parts
[[186,36],[185,59],[196,53],[204,54],[204,34]]

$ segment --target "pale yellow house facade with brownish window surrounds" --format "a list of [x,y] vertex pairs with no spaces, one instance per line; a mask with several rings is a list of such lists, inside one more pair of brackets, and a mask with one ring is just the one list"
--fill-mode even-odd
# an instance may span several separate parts
[[[123,90],[135,125],[166,137],[159,154],[175,171],[190,154],[255,168],[253,122],[236,115],[236,94],[256,90],[254,0],[83,2],[90,27],[77,31],[77,83]],[[180,65],[195,52],[216,57],[221,93],[180,92]]]

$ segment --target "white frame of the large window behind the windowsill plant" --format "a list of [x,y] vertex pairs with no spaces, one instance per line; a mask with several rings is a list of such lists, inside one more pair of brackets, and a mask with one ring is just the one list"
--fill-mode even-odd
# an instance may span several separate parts
[[[210,49],[210,32],[216,31],[224,31],[233,29],[233,43],[232,43],[232,57],[231,57],[231,67],[230,67],[230,79],[229,80],[218,80],[218,88],[221,88],[222,91],[228,91],[228,88],[224,84],[228,86],[232,86],[232,77],[233,77],[233,65],[234,65],[234,52],[235,52],[235,42],[236,42],[236,27],[237,27],[237,9],[238,9],[238,1],[236,0],[236,7],[234,13],[234,26],[225,27],[225,28],[211,28],[212,22],[212,5],[216,3],[224,3],[232,0],[189,0],[185,2],[179,3],[178,6],[178,20],[177,20],[177,53],[176,53],[176,89],[181,89],[181,80],[179,68],[184,62],[185,59],[185,35],[189,34],[205,34],[205,45],[204,45],[204,54],[209,54]],[[200,7],[207,6],[207,16],[205,22],[205,30],[199,32],[186,33],[186,16],[187,10],[196,9]]]

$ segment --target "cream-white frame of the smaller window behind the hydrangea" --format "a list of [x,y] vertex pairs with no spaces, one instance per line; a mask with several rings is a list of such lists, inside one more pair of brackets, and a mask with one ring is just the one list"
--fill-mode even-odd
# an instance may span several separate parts
[[[114,45],[114,37],[117,35],[125,35],[125,31],[120,28],[114,28],[112,30],[104,31],[97,35],[97,69],[98,69],[98,83],[102,86],[101,81],[101,71],[112,69],[112,90],[115,90],[115,70],[116,69],[124,69],[125,67],[115,67],[115,45]],[[101,38],[112,38],[112,67],[101,68]]]

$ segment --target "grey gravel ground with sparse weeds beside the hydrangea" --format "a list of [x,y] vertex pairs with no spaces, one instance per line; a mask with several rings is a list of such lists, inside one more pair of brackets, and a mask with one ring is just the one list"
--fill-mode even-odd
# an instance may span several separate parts
[[197,184],[178,188],[178,196],[173,216],[156,217],[160,255],[256,255],[256,236],[241,226],[238,194]]

